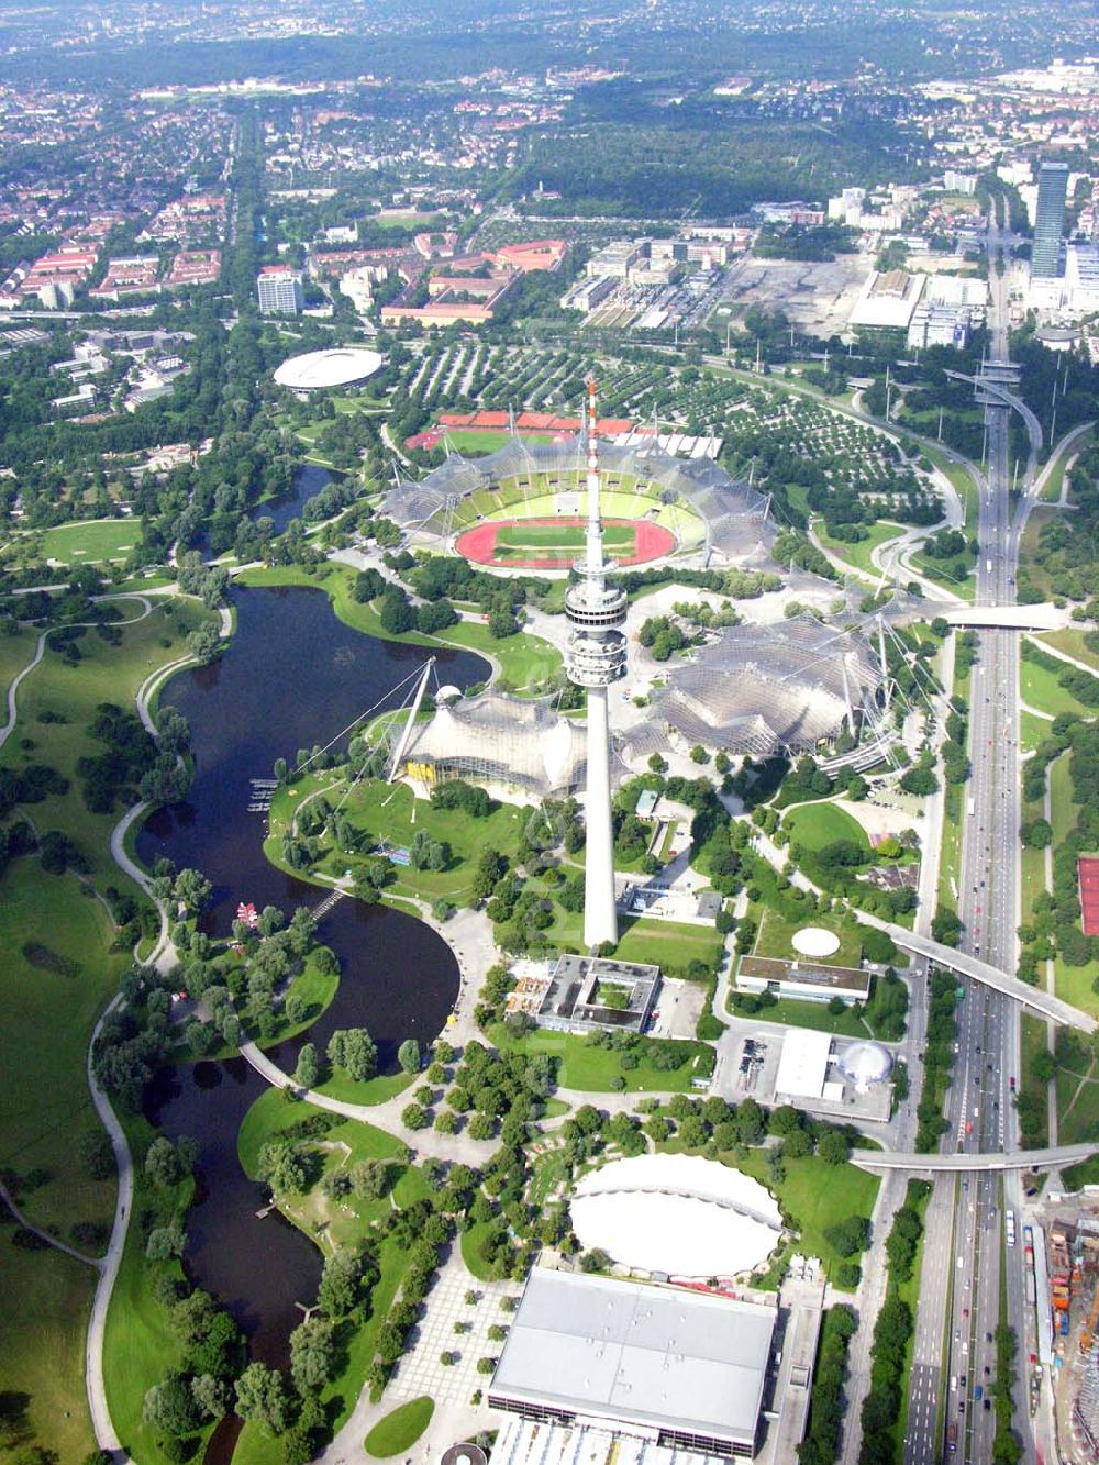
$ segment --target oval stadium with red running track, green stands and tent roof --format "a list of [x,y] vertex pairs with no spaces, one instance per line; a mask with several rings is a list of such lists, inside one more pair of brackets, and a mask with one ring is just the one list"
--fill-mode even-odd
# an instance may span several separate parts
[[[486,457],[451,453],[419,483],[399,483],[381,511],[412,548],[460,554],[504,573],[566,574],[583,548],[583,437],[513,437]],[[692,567],[775,568],[769,500],[709,459],[676,459],[652,440],[599,442],[601,507],[621,565],[676,558]]]

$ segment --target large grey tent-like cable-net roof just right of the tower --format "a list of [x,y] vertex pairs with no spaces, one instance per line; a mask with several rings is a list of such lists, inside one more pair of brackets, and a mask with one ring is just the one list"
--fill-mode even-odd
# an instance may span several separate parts
[[671,670],[655,715],[689,743],[731,753],[807,753],[872,719],[885,674],[857,634],[797,615],[736,626]]

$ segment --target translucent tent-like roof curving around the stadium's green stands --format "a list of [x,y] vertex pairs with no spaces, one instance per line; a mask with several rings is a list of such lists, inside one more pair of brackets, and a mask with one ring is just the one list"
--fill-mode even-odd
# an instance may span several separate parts
[[[399,483],[382,500],[382,513],[402,529],[448,539],[462,527],[498,513],[523,495],[576,491],[582,486],[586,447],[582,437],[561,442],[533,442],[513,437],[495,453],[466,459],[451,453],[421,483]],[[709,459],[677,459],[654,440],[599,442],[599,470],[607,488],[636,481],[637,492],[658,504],[683,502],[703,522],[702,555],[737,564],[774,564],[771,546],[777,529],[769,500],[733,479]],[[511,486],[510,497],[501,485]],[[469,500],[478,495],[475,504]]]

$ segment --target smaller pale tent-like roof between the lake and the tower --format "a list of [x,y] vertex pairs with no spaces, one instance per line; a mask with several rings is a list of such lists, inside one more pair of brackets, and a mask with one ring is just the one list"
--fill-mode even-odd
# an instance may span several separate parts
[[586,737],[552,697],[520,700],[489,690],[441,705],[416,727],[406,756],[435,779],[488,779],[545,797],[582,784]]

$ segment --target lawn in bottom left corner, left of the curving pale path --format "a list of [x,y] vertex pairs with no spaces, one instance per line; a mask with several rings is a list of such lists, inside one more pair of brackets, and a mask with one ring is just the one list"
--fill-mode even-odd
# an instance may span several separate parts
[[[53,1248],[25,1251],[12,1245],[12,1235],[4,1212],[0,1223],[3,1392],[26,1396],[28,1431],[51,1452],[50,1459],[81,1461],[95,1444],[84,1395],[84,1329],[95,1277],[91,1267]],[[0,1458],[15,1461],[16,1453],[0,1449]]]

